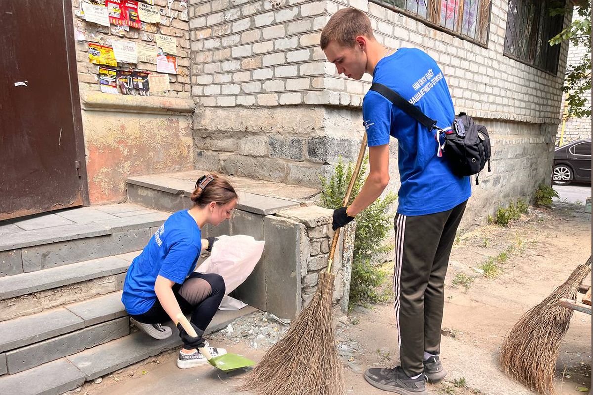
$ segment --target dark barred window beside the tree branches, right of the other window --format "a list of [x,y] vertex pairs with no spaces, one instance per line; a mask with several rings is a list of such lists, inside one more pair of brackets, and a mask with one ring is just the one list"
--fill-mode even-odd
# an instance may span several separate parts
[[564,15],[551,17],[550,9],[563,7],[563,1],[509,1],[505,55],[556,74],[560,45],[551,47],[548,41],[562,31]]

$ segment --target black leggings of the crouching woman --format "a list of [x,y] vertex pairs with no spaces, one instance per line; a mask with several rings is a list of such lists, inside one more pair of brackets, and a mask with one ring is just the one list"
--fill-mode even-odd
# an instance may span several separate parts
[[[192,272],[183,284],[173,285],[173,293],[181,311],[185,314],[192,313],[190,321],[202,331],[205,331],[212,321],[216,310],[221,305],[225,291],[224,280],[216,273]],[[158,298],[146,313],[130,314],[130,316],[143,324],[159,324],[170,320]],[[193,347],[186,346],[186,348]]]

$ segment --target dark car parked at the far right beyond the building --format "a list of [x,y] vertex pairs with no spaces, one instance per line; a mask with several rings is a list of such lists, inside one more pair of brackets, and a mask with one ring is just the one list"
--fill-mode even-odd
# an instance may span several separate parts
[[556,148],[552,181],[557,185],[568,185],[572,181],[591,183],[591,139]]

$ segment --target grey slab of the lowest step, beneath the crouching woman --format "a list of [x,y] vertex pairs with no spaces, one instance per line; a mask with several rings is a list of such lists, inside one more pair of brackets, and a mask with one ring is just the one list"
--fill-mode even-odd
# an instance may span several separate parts
[[[235,319],[257,311],[254,307],[246,306],[240,310],[219,310],[206,329],[206,333],[224,329]],[[123,367],[135,364],[153,355],[160,354],[181,345],[179,332],[173,323],[165,324],[173,330],[173,335],[164,340],[156,340],[143,332],[136,332],[124,338],[105,343],[100,346],[70,355],[72,362],[87,376],[87,380],[101,377]]]

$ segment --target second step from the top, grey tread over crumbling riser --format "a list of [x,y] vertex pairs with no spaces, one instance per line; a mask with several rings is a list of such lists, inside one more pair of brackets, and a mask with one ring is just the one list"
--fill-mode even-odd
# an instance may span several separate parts
[[[0,322],[63,305],[68,305],[71,309],[69,311],[81,314],[85,320],[92,320],[93,314],[101,314],[104,310],[93,307],[88,309],[90,311],[82,311],[85,309],[85,303],[69,304],[121,290],[127,268],[139,253],[140,251],[130,252],[2,277]],[[105,304],[104,307],[109,310],[112,304]],[[95,320],[93,324],[97,322]]]

